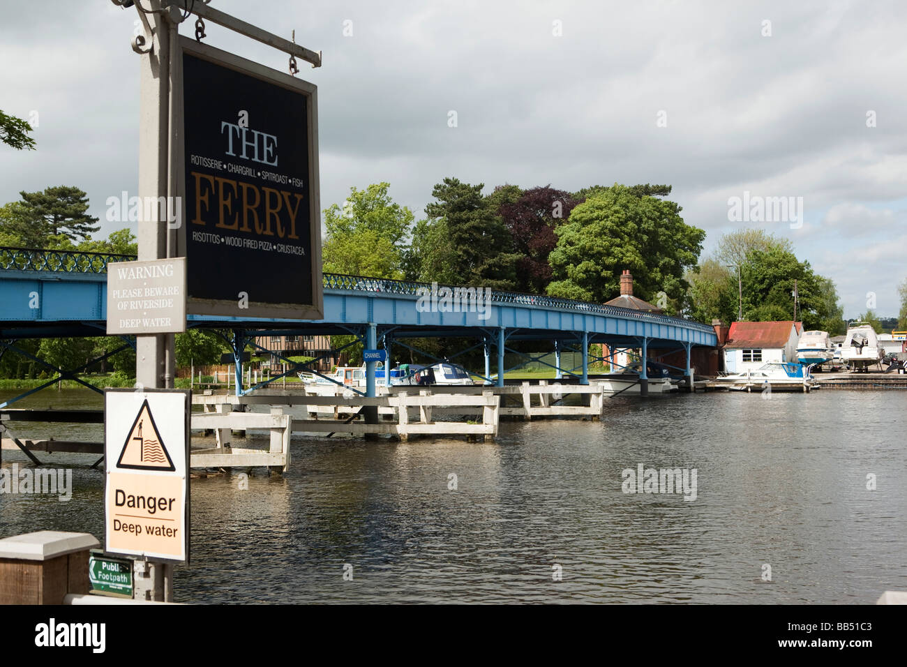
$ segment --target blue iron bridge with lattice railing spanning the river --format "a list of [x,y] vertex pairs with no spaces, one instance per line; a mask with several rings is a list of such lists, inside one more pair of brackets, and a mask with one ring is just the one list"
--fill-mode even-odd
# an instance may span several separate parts
[[[103,335],[107,318],[107,265],[134,259],[129,255],[0,248],[0,354],[5,349],[22,353],[15,348],[15,340],[19,338]],[[639,349],[643,358],[648,357],[649,349],[686,350],[686,368],[678,370],[688,376],[691,374],[690,349],[717,346],[717,336],[712,327],[688,319],[498,290],[490,290],[487,302],[466,298],[459,301],[453,299],[453,304],[450,301],[444,303],[443,288],[406,280],[326,273],[324,319],[242,319],[190,315],[188,326],[215,329],[229,342],[236,358],[238,393],[261,386],[242,387],[240,377],[242,350],[252,345],[270,352],[255,342],[261,336],[353,335],[356,337],[354,343],[360,341],[366,348],[385,348],[388,359],[393,358],[390,352],[395,345],[434,358],[414,348],[411,340],[405,342],[407,339],[471,339],[475,341],[473,345],[467,344],[446,359],[453,360],[473,349],[483,348],[484,375],[475,375],[499,386],[503,384],[508,370],[504,368],[505,353],[522,359],[522,363],[515,368],[525,366],[529,361],[538,361],[555,368],[558,378],[574,378],[580,384],[587,384],[590,361],[603,360],[590,354],[590,346],[595,344],[605,344],[612,352],[619,348]],[[449,289],[452,292],[460,290],[456,293],[464,297],[473,294],[464,291],[466,288]],[[485,290],[480,290],[482,297],[486,294]],[[442,298],[439,299],[438,295]],[[134,345],[130,338],[124,340]],[[533,357],[532,353],[513,349],[511,345],[515,341],[537,341],[534,345],[517,347],[544,348],[544,351],[540,356]],[[554,363],[543,361],[542,357],[551,358],[552,351]],[[581,365],[561,368],[561,351],[580,353]],[[493,377],[491,370],[495,353],[497,374]],[[274,356],[283,358],[279,354]],[[44,364],[44,361],[37,360]],[[288,373],[303,367],[287,358],[284,360],[292,365]],[[613,361],[613,358],[610,360]],[[314,363],[308,362],[306,366]],[[370,380],[374,380],[374,365],[375,362],[366,364],[366,370],[371,371],[368,373]],[[311,372],[311,368],[305,369]],[[63,378],[74,378],[73,370],[54,370],[60,372]],[[640,379],[647,379],[644,365]],[[366,395],[374,396],[372,382],[366,388]]]

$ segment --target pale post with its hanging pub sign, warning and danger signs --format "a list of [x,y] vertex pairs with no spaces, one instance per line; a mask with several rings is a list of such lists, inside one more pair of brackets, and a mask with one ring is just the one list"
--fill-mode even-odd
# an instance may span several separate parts
[[[323,312],[316,88],[200,44],[202,19],[289,54],[293,74],[297,58],[317,67],[321,54],[208,2],[112,3],[134,5],[136,23],[141,22],[132,39],[132,50],[141,58],[139,198],[143,211],[158,213],[139,221],[139,261],[132,263],[132,273],[123,267],[108,287],[107,332],[135,334],[137,391],[132,395],[145,397],[146,403],[136,407],[114,392],[105,398],[107,550],[163,561],[136,562],[136,572],[145,576],[135,580],[135,587],[147,580],[153,599],[161,591],[169,599],[171,563],[189,557],[190,400],[188,394],[181,397],[178,415],[177,399],[170,405],[171,399],[163,398],[167,394],[156,390],[173,387],[174,334],[186,330],[187,304],[193,314],[238,318],[321,319]],[[197,42],[180,37],[177,29],[192,14],[198,16]],[[172,220],[170,211],[177,211]],[[134,423],[127,441],[118,445],[126,427],[120,408],[134,413]],[[166,414],[163,421],[156,418],[160,413]],[[134,430],[139,424],[141,433]],[[171,432],[180,425],[182,436]],[[137,453],[139,443],[148,451]],[[140,481],[142,476],[150,481]],[[181,493],[174,478],[182,480]],[[145,493],[151,491],[161,495]],[[145,498],[147,515],[133,516],[132,522],[122,513],[113,515],[112,510],[122,509],[121,499],[129,508],[129,496],[135,503]],[[152,498],[157,498],[153,512]],[[181,528],[161,522],[167,515],[179,523],[174,507],[184,513]],[[123,525],[132,526],[132,532]],[[180,540],[185,540],[181,551]]]

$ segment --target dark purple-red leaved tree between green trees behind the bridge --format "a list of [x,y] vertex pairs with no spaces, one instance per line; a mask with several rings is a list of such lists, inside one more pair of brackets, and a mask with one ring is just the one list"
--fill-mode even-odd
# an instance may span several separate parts
[[505,201],[497,211],[510,231],[516,262],[516,289],[544,294],[551,282],[548,256],[558,242],[554,230],[570,217],[576,206],[570,192],[551,185],[522,192],[515,201]]

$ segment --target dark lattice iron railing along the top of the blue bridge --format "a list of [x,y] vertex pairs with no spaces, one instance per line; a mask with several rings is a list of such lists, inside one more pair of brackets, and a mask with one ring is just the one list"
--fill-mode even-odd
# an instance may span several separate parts
[[[115,261],[134,260],[134,255],[115,255],[102,252],[83,252],[81,250],[37,250],[31,248],[0,247],[0,269],[65,271],[69,273],[105,273],[107,264]],[[400,294],[404,296],[422,296],[431,294],[433,289],[463,289],[451,285],[433,285],[414,280],[391,280],[385,278],[368,278],[366,276],[347,276],[340,273],[325,273],[325,289],[349,289],[351,291]],[[493,303],[512,303],[539,308],[556,308],[595,315],[610,315],[624,319],[641,319],[658,324],[682,326],[687,329],[714,333],[707,324],[700,324],[689,319],[671,318],[667,315],[656,315],[640,310],[606,306],[600,303],[587,303],[574,299],[561,299],[541,294],[525,294],[493,289]]]

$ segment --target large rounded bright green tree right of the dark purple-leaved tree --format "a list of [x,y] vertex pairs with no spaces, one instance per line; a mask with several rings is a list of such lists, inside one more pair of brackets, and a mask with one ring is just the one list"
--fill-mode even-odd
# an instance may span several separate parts
[[654,301],[664,292],[678,310],[706,232],[686,224],[680,207],[649,195],[636,196],[615,183],[571,211],[557,228],[549,262],[548,293],[568,299],[607,301],[619,294],[622,270],[633,273],[634,294]]

